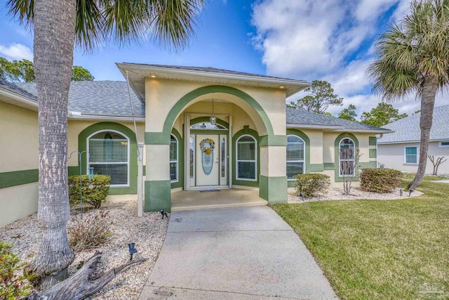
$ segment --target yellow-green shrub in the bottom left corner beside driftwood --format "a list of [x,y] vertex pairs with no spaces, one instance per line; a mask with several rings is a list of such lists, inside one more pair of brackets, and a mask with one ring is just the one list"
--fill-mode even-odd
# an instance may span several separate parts
[[0,242],[0,299],[19,299],[29,294],[31,288],[25,277],[15,275],[23,266],[16,254],[11,252],[13,244]]

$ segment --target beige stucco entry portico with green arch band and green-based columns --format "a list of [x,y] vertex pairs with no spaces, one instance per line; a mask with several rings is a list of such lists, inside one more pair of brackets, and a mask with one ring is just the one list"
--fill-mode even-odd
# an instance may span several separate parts
[[[259,188],[269,203],[286,202],[286,109],[285,91],[248,86],[210,85],[193,81],[145,79],[145,145],[147,168],[145,211],[170,211],[170,133],[182,136],[184,115],[210,115],[203,100],[220,99],[215,114],[231,115],[233,143],[244,131],[257,136],[257,181],[236,181],[233,185]],[[229,119],[228,119],[229,120]],[[182,180],[182,178],[180,178]]]

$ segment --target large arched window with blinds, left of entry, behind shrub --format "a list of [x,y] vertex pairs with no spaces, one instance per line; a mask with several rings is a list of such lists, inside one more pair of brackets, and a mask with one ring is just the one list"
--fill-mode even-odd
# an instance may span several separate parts
[[111,176],[111,186],[129,185],[129,138],[114,130],[97,131],[87,138],[88,168]]

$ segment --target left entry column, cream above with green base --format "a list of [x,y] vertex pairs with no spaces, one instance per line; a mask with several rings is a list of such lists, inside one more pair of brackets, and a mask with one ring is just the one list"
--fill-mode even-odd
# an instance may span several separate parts
[[150,142],[146,147],[145,211],[170,211],[170,145],[151,144],[147,137],[145,141]]

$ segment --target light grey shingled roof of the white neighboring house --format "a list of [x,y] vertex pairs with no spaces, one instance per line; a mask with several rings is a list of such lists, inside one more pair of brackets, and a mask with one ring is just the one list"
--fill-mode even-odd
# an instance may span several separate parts
[[[420,117],[421,113],[418,112],[385,125],[385,128],[394,130],[394,133],[382,135],[377,139],[377,143],[419,142],[421,139]],[[434,108],[430,141],[449,141],[449,105]]]

